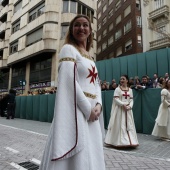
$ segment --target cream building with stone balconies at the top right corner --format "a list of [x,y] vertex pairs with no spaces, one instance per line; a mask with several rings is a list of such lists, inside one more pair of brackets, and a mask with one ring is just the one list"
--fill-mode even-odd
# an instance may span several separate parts
[[170,1],[143,0],[143,51],[170,47]]

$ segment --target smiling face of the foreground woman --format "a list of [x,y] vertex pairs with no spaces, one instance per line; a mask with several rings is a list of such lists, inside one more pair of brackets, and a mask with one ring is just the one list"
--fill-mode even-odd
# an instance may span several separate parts
[[86,18],[77,18],[73,23],[73,36],[77,42],[87,42],[91,33],[89,22]]

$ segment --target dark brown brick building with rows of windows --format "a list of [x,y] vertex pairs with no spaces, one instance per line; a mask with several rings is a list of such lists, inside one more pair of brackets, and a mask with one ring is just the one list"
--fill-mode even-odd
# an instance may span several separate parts
[[140,0],[98,0],[97,60],[143,51]]

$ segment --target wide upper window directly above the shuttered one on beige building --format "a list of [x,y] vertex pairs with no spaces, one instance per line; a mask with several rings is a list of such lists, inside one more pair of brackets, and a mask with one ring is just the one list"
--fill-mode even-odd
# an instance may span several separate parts
[[29,22],[35,20],[37,17],[39,17],[40,15],[42,15],[44,13],[45,10],[45,4],[41,4],[40,6],[38,6],[36,9],[32,10],[29,13]]

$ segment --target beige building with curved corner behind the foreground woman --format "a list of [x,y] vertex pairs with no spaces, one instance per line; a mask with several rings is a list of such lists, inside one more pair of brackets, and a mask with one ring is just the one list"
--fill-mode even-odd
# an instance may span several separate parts
[[1,0],[0,92],[57,86],[58,53],[77,14],[92,21],[96,58],[95,0]]

